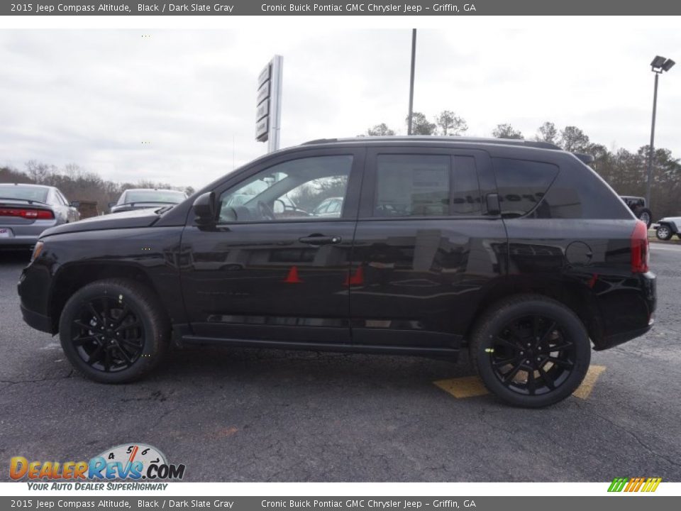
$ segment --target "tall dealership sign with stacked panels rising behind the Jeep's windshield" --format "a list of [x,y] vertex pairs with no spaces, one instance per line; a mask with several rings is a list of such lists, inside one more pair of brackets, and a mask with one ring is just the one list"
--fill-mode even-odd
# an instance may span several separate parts
[[279,149],[283,64],[283,57],[275,55],[258,75],[258,92],[255,95],[255,140],[267,142],[268,153]]

